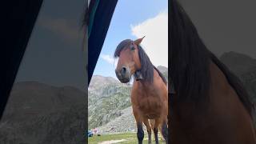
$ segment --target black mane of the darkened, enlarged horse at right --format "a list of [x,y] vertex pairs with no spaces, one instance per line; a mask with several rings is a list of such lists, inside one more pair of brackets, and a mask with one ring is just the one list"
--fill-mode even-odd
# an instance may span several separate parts
[[212,61],[225,74],[230,86],[251,114],[252,104],[242,82],[210,50],[207,50],[193,22],[177,0],[173,0],[170,6],[170,79],[174,83],[178,100],[209,100],[207,96],[210,90]]

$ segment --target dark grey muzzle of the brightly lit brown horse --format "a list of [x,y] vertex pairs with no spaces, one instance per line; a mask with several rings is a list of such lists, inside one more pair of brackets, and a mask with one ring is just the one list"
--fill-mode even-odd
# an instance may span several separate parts
[[130,82],[130,68],[122,66],[120,70],[115,70],[115,74],[118,80],[122,83]]

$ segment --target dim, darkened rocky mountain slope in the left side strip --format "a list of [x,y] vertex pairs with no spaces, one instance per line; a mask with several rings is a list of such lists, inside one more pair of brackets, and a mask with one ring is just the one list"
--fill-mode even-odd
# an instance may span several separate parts
[[0,143],[84,143],[85,95],[72,86],[14,84],[0,122]]

